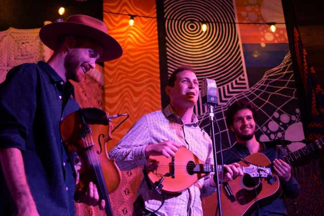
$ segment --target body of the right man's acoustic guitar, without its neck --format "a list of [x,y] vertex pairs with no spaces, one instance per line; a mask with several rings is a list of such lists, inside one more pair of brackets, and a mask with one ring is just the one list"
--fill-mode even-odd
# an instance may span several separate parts
[[[259,166],[271,164],[269,159],[262,153],[249,155],[245,160]],[[248,164],[242,161],[238,163],[240,166],[248,166]],[[251,178],[247,174],[228,182],[235,201],[229,198],[225,190],[225,185],[223,184],[221,186],[223,215],[251,215],[257,209],[256,202],[261,207],[279,197],[281,194],[279,179],[273,172],[272,175],[276,178],[273,184],[269,184],[265,178]]]

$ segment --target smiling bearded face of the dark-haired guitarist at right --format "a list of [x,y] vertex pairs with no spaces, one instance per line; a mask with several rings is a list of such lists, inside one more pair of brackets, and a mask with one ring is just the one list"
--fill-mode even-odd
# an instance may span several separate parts
[[238,141],[248,141],[254,137],[255,121],[250,109],[241,109],[236,112],[233,124],[230,126]]

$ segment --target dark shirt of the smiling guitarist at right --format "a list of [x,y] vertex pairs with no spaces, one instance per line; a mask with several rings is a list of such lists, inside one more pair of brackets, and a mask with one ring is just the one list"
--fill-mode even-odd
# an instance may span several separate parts
[[[274,159],[279,159],[285,156],[285,153],[275,145],[276,142],[260,142],[260,145],[264,146],[264,149],[261,151],[268,159],[273,162]],[[225,150],[223,152],[224,164],[230,164],[238,162],[240,158],[246,158],[250,155],[249,149],[242,144],[236,143],[231,150]],[[220,156],[218,156],[218,159]],[[218,160],[220,163],[220,160]],[[290,182],[285,183],[280,181],[282,186],[282,192],[289,198],[296,198],[299,194],[299,183],[295,178],[292,178]],[[252,215],[287,215],[287,209],[282,197],[279,197],[272,201],[269,205],[264,207],[260,206],[260,209],[255,211]]]

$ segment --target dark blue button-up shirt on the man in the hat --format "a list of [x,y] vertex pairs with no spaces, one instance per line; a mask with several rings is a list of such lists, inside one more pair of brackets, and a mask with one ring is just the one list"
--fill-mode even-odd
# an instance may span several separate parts
[[[75,214],[75,180],[59,129],[62,118],[79,109],[72,96],[73,85],[45,62],[16,66],[0,84],[0,148],[21,150],[41,215]],[[0,184],[0,215],[11,214],[14,202],[2,169]]]

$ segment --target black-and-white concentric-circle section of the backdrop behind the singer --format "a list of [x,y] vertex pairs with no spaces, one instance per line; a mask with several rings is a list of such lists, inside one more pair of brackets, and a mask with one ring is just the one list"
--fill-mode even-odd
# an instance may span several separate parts
[[[237,93],[249,89],[244,56],[235,22],[232,1],[163,1],[159,23],[164,28],[166,62],[171,74],[179,65],[191,65],[199,80],[216,79],[219,104],[224,105]],[[206,21],[207,31],[201,31]],[[163,32],[165,30],[165,32]],[[161,75],[165,71],[160,71]],[[198,103],[198,113],[203,112]]]

